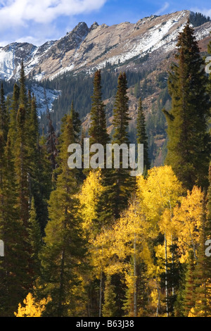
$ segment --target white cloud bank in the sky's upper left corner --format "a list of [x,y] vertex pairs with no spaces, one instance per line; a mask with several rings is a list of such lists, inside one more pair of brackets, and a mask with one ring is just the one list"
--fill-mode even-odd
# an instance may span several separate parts
[[0,0],[1,29],[51,23],[61,15],[78,15],[97,10],[107,0]]

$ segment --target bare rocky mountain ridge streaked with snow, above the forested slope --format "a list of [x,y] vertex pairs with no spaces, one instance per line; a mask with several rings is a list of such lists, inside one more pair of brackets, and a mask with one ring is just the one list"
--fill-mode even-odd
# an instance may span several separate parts
[[[108,63],[125,64],[136,70],[139,64],[134,60],[146,55],[147,65],[155,61],[162,63],[175,48],[178,33],[189,15],[190,11],[179,11],[152,15],[135,24],[125,22],[112,26],[94,23],[87,27],[86,23],[79,23],[65,37],[39,47],[27,43],[9,44],[0,48],[0,77],[18,78],[21,61],[26,74],[37,81],[52,80],[67,71],[92,73]],[[196,38],[208,41],[210,30],[211,22],[196,27]]]

